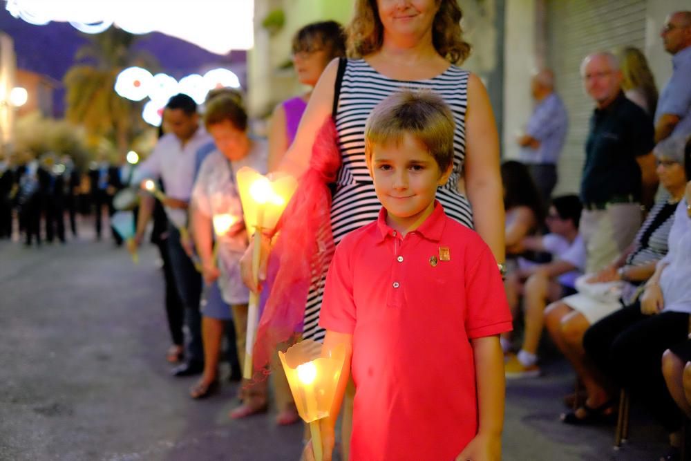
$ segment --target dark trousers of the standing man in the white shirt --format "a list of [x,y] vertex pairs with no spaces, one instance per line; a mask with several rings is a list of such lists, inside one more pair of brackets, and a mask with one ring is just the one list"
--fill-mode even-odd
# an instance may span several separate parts
[[173,277],[178,294],[184,305],[184,323],[189,330],[187,357],[189,361],[204,361],[202,346],[202,314],[199,301],[202,294],[202,275],[194,268],[192,260],[180,245],[180,232],[173,225],[168,226],[168,252],[171,258]]

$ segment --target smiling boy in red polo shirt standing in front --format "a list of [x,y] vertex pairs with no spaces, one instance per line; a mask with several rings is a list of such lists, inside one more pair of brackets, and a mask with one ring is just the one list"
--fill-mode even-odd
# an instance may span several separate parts
[[511,314],[489,247],[435,200],[453,169],[453,123],[438,96],[404,91],[377,105],[366,125],[366,160],[384,207],[343,238],[327,276],[325,347],[345,344],[348,354],[321,427],[325,460],[351,370],[351,460],[501,457],[499,334],[511,330]]

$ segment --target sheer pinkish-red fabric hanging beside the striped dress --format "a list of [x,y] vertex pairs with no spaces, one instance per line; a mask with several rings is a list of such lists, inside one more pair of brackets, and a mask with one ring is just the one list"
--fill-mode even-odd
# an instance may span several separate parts
[[310,167],[300,178],[298,189],[283,212],[276,245],[272,250],[267,281],[269,296],[261,314],[254,345],[254,370],[260,372],[269,363],[276,346],[302,331],[305,303],[310,281],[321,276],[332,254],[331,191],[341,167],[338,133],[331,117],[319,129],[312,146]]

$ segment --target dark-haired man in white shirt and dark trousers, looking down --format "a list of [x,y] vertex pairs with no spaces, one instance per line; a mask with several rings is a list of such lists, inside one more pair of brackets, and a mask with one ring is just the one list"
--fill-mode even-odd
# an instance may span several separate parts
[[[180,93],[171,97],[165,107],[165,117],[171,132],[158,140],[149,158],[140,164],[133,183],[160,178],[166,191],[167,199],[163,205],[169,220],[168,251],[180,299],[184,304],[185,324],[190,335],[186,351],[187,360],[173,369],[173,375],[189,376],[198,375],[204,369],[199,312],[202,278],[182,248],[180,229],[187,227],[187,208],[194,182],[196,152],[211,142],[211,138],[200,126],[197,104],[188,95]],[[135,245],[142,242],[152,209],[151,201],[142,200],[134,238]]]

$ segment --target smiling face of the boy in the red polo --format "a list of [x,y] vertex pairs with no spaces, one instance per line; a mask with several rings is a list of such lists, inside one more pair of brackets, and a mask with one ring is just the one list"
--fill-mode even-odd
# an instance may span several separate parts
[[437,187],[453,169],[450,165],[441,171],[424,144],[408,134],[398,142],[372,146],[368,167],[388,224],[401,230],[417,227],[432,213]]

